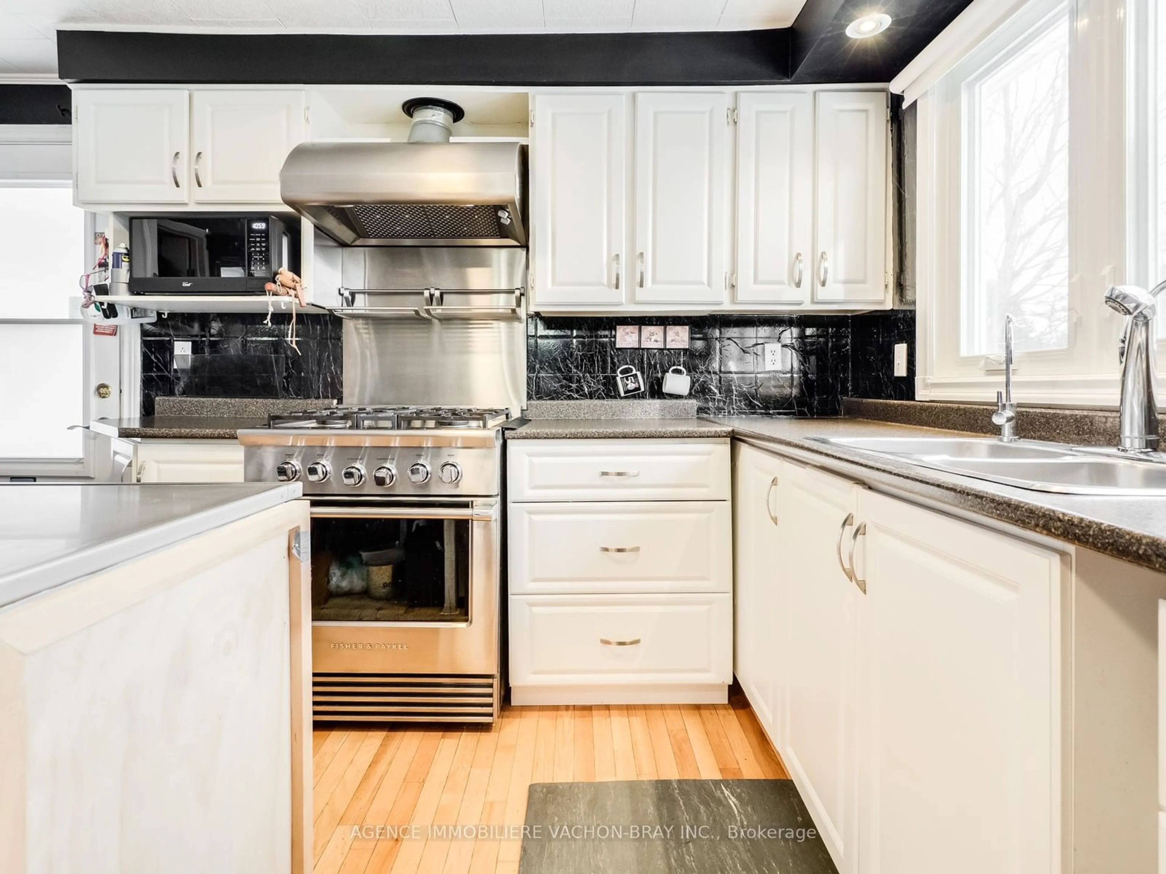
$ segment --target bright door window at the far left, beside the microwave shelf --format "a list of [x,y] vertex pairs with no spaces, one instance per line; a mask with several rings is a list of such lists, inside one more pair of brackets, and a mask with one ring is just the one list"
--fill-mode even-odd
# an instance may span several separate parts
[[84,473],[84,324],[70,311],[85,270],[85,213],[68,183],[2,181],[0,474]]

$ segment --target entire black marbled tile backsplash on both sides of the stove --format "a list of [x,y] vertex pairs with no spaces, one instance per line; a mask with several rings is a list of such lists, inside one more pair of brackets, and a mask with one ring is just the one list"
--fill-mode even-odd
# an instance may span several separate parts
[[[154,397],[336,397],[343,395],[342,322],[300,315],[300,352],[287,317],[171,313],[142,326],[142,415]],[[616,348],[616,325],[689,326],[688,350]],[[174,340],[190,340],[191,366],[174,368]],[[785,348],[765,371],[765,344]],[[892,346],[907,344],[907,376],[893,376]],[[599,318],[531,316],[527,399],[612,399],[616,369],[632,365],[647,381],[637,397],[667,397],[660,382],[680,365],[693,376],[701,413],[837,416],[843,397],[912,400],[913,310],[859,316],[704,316]]]

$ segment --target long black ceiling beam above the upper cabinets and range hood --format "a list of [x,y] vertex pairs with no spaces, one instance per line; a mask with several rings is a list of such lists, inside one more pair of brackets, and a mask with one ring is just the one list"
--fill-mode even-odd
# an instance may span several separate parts
[[174,84],[771,85],[789,33],[155,34],[58,30],[61,78]]

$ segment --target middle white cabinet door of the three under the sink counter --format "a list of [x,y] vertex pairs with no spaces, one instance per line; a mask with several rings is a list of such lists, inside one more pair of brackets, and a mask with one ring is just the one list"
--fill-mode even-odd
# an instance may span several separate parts
[[[857,868],[858,602],[843,571],[854,531],[848,480],[786,464],[778,486],[778,538],[786,609],[787,689],[779,749],[841,874]],[[890,872],[887,872],[890,874]],[[899,874],[899,872],[895,872]]]

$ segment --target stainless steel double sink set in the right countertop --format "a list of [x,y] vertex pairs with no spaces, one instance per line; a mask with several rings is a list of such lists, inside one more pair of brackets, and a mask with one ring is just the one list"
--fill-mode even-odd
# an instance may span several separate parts
[[1034,492],[1166,496],[1166,453],[992,437],[814,437],[872,456]]

